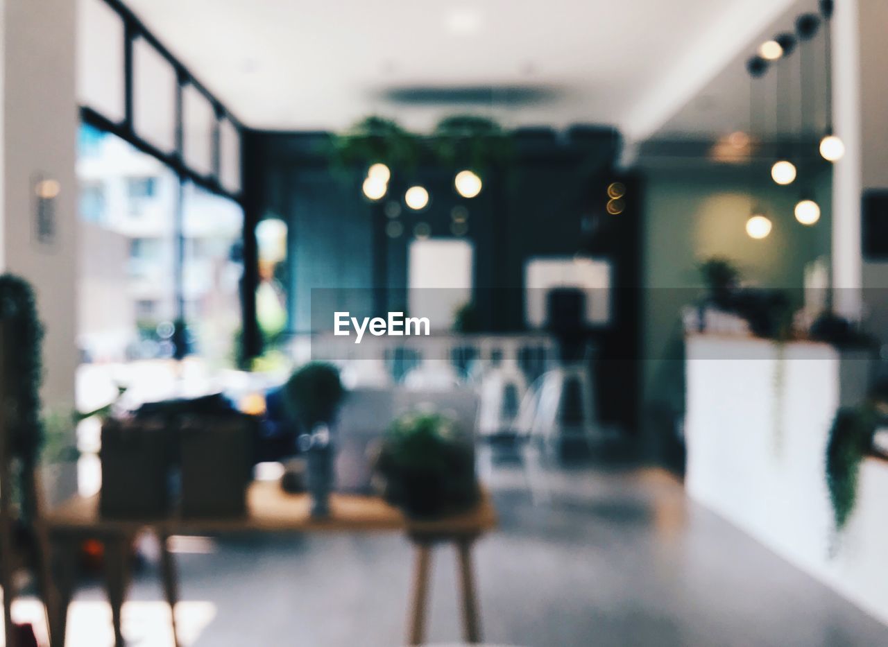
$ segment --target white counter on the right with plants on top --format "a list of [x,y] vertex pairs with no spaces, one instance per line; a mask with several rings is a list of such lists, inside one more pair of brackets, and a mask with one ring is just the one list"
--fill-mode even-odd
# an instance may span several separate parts
[[688,494],[888,624],[888,462],[864,460],[829,551],[829,427],[840,403],[862,400],[868,361],[820,343],[686,343]]

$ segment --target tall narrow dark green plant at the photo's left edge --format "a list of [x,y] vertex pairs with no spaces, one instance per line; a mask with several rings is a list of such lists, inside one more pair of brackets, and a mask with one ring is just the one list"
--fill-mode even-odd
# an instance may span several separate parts
[[[0,320],[4,322],[4,419],[12,438],[12,453],[26,466],[36,464],[43,440],[40,384],[43,365],[40,345],[44,327],[37,319],[34,292],[26,280],[0,275]],[[10,352],[14,350],[14,352]]]

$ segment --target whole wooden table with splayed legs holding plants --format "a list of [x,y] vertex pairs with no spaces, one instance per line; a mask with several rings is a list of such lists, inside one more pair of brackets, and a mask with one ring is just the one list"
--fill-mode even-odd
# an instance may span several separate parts
[[[99,497],[74,497],[46,517],[52,540],[54,580],[58,607],[51,613],[53,647],[65,641],[67,607],[74,590],[76,555],[80,541],[95,538],[105,544],[105,580],[111,604],[115,644],[123,645],[121,609],[129,584],[129,557],[133,538],[141,532],[155,533],[161,543],[163,589],[173,635],[176,633],[175,604],[178,579],[173,556],[168,549],[171,535],[217,533],[377,533],[403,532],[414,545],[415,566],[412,601],[408,620],[408,644],[424,641],[432,548],[436,543],[455,546],[460,575],[464,638],[467,643],[481,640],[478,600],[472,568],[472,544],[480,535],[496,527],[496,511],[488,493],[482,493],[472,510],[434,521],[405,518],[379,497],[333,494],[330,516],[314,519],[306,494],[288,494],[276,482],[255,482],[247,493],[247,515],[235,518],[109,519],[99,515]],[[58,637],[56,637],[58,636]],[[176,637],[178,646],[178,637]]]

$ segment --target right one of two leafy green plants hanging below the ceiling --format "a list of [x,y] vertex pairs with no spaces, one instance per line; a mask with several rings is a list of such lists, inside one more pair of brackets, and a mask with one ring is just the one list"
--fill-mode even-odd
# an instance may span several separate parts
[[484,170],[506,162],[512,154],[511,138],[492,119],[472,114],[445,117],[432,132],[432,152],[450,167]]

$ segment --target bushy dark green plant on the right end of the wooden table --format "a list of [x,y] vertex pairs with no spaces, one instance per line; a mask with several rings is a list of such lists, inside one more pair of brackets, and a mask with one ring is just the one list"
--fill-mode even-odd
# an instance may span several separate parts
[[376,471],[385,500],[408,517],[459,512],[479,498],[472,438],[441,414],[404,414],[392,422]]

